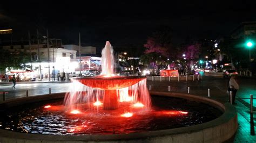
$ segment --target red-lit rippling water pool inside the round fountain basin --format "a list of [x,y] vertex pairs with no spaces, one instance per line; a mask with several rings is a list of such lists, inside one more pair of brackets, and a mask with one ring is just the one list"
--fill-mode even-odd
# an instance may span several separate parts
[[221,115],[203,103],[158,96],[153,96],[150,109],[130,102],[119,103],[116,110],[104,110],[103,104],[80,107],[70,110],[61,101],[17,107],[1,114],[0,128],[39,134],[121,134],[191,126]]

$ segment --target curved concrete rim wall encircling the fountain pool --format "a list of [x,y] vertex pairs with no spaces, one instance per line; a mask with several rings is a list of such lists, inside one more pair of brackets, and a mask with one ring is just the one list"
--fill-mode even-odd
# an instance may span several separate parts
[[[211,104],[223,111],[223,115],[204,124],[169,130],[110,135],[46,135],[0,130],[0,142],[223,142],[237,131],[237,111],[209,98],[170,92],[151,92],[152,95],[186,98]],[[25,103],[63,98],[65,93],[14,99],[0,104],[0,109]]]

